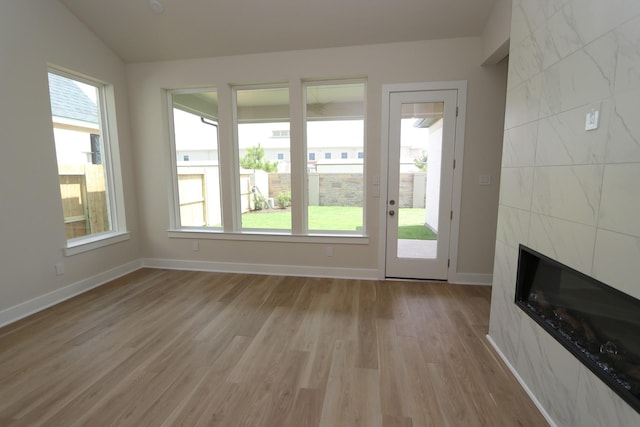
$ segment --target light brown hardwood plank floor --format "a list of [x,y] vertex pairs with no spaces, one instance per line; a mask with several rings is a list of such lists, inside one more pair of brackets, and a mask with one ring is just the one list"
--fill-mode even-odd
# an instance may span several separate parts
[[490,293],[139,270],[0,329],[0,425],[544,426]]

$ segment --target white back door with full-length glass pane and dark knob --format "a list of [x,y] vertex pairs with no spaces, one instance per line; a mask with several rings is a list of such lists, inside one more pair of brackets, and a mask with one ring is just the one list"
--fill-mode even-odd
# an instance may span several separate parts
[[457,90],[391,92],[386,277],[446,280]]

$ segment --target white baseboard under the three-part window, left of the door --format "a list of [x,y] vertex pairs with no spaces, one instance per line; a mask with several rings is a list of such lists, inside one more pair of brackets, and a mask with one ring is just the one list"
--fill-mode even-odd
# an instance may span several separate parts
[[273,274],[279,276],[329,277],[334,279],[377,280],[378,270],[367,268],[316,267],[308,265],[245,264],[147,258],[144,267],[195,270],[218,273]]

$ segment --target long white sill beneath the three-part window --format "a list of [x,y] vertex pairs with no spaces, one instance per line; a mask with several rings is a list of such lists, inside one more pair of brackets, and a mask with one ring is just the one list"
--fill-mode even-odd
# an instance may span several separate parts
[[223,231],[211,231],[203,229],[175,229],[169,230],[169,238],[172,239],[209,239],[209,240],[234,240],[250,242],[286,242],[286,243],[332,243],[349,245],[366,245],[369,238],[353,234],[275,234],[273,232],[242,232],[225,233]]

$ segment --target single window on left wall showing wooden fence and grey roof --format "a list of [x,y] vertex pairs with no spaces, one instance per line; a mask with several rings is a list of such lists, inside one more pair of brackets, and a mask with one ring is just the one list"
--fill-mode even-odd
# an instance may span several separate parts
[[[113,91],[103,83],[50,69],[49,98],[67,255],[126,235],[117,141],[110,138]],[[110,114],[107,114],[107,113]],[[96,243],[101,242],[101,243]],[[83,245],[93,245],[81,248]],[[76,248],[74,251],[73,248]],[[71,250],[71,251],[70,251]]]

